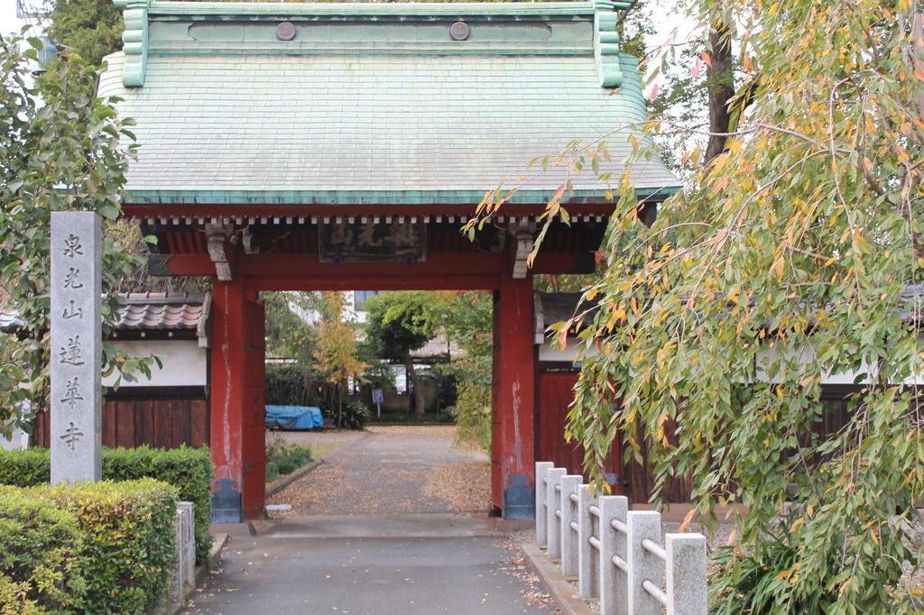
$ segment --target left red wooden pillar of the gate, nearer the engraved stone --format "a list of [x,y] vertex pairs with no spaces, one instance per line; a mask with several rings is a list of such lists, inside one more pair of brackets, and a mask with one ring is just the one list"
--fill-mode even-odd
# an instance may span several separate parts
[[213,519],[239,521],[263,509],[263,310],[242,276],[213,280],[212,293]]

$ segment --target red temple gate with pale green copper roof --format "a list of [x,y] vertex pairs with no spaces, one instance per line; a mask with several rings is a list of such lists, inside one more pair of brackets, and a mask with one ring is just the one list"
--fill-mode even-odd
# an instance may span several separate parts
[[[620,175],[645,119],[614,32],[627,3],[116,4],[125,50],[100,94],[123,99],[141,146],[124,211],[158,239],[152,273],[213,281],[216,483],[261,514],[261,291],[490,290],[492,504],[529,516],[511,496],[535,461],[532,278],[592,271],[613,204],[590,171],[527,163],[607,139],[602,171]],[[510,202],[461,235],[505,180]],[[647,206],[675,186],[660,161],[633,181]],[[529,269],[565,182],[570,223]]]

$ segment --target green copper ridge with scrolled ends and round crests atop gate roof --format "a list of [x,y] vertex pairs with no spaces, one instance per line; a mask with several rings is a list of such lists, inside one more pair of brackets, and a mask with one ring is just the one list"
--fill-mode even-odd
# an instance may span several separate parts
[[[622,84],[618,55],[620,40],[615,31],[615,9],[632,5],[627,0],[590,2],[468,2],[468,3],[261,3],[261,2],[164,2],[163,0],[115,0],[124,9],[123,34],[128,87],[144,85],[151,54],[323,54],[357,49],[377,54],[584,54],[592,52],[600,84]],[[449,19],[464,28],[488,33],[468,40],[434,36],[427,23],[444,26]],[[569,29],[568,21],[592,19],[593,28],[583,37]],[[518,31],[503,38],[506,22],[533,23],[546,30]],[[424,22],[420,24],[419,22]],[[293,23],[294,22],[294,23]],[[555,28],[551,27],[554,23]],[[199,25],[204,24],[204,25]],[[270,36],[270,28],[286,24],[291,35]],[[328,41],[336,37],[330,28],[356,24],[368,40]],[[478,24],[482,24],[478,26]],[[458,24],[456,24],[458,25]],[[326,28],[326,30],[325,30]],[[501,28],[499,30],[499,28]],[[185,29],[185,30],[184,30]],[[204,30],[203,30],[204,29]],[[248,29],[249,34],[245,34]],[[388,29],[388,30],[386,30]],[[201,31],[190,36],[189,31]],[[299,32],[300,30],[300,32]],[[415,38],[422,33],[424,40]],[[491,40],[491,37],[495,40]],[[497,37],[501,40],[496,40]],[[429,37],[429,38],[427,38]]]

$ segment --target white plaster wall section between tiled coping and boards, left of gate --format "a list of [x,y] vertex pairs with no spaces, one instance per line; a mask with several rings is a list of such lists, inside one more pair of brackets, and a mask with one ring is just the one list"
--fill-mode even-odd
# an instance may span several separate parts
[[[164,367],[156,365],[151,370],[151,380],[138,374],[137,380],[122,379],[120,387],[186,387],[208,384],[208,360],[206,348],[200,348],[196,340],[132,340],[112,342],[118,350],[128,356],[141,358],[155,355],[160,357]],[[103,379],[103,385],[112,386],[116,377]]]

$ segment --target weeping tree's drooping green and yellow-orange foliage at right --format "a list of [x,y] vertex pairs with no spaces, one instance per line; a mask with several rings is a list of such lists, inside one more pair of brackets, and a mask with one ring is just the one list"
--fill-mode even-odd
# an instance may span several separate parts
[[[918,566],[903,522],[924,496],[906,384],[924,357],[924,18],[906,0],[690,5],[694,62],[711,61],[716,23],[734,24],[723,35],[745,77],[728,102],[735,130],[710,160],[692,142],[691,175],[651,228],[631,174],[675,125],[629,138],[611,256],[585,291],[601,309],[580,333],[570,431],[598,477],[614,439],[636,458],[646,440],[655,503],[668,477],[692,476],[707,519],[717,504],[745,506],[740,552],[712,583],[772,593],[772,606],[733,599],[723,612],[901,609],[902,563]],[[848,372],[861,384],[850,422],[806,438],[822,378]],[[776,582],[780,562],[791,565]]]

